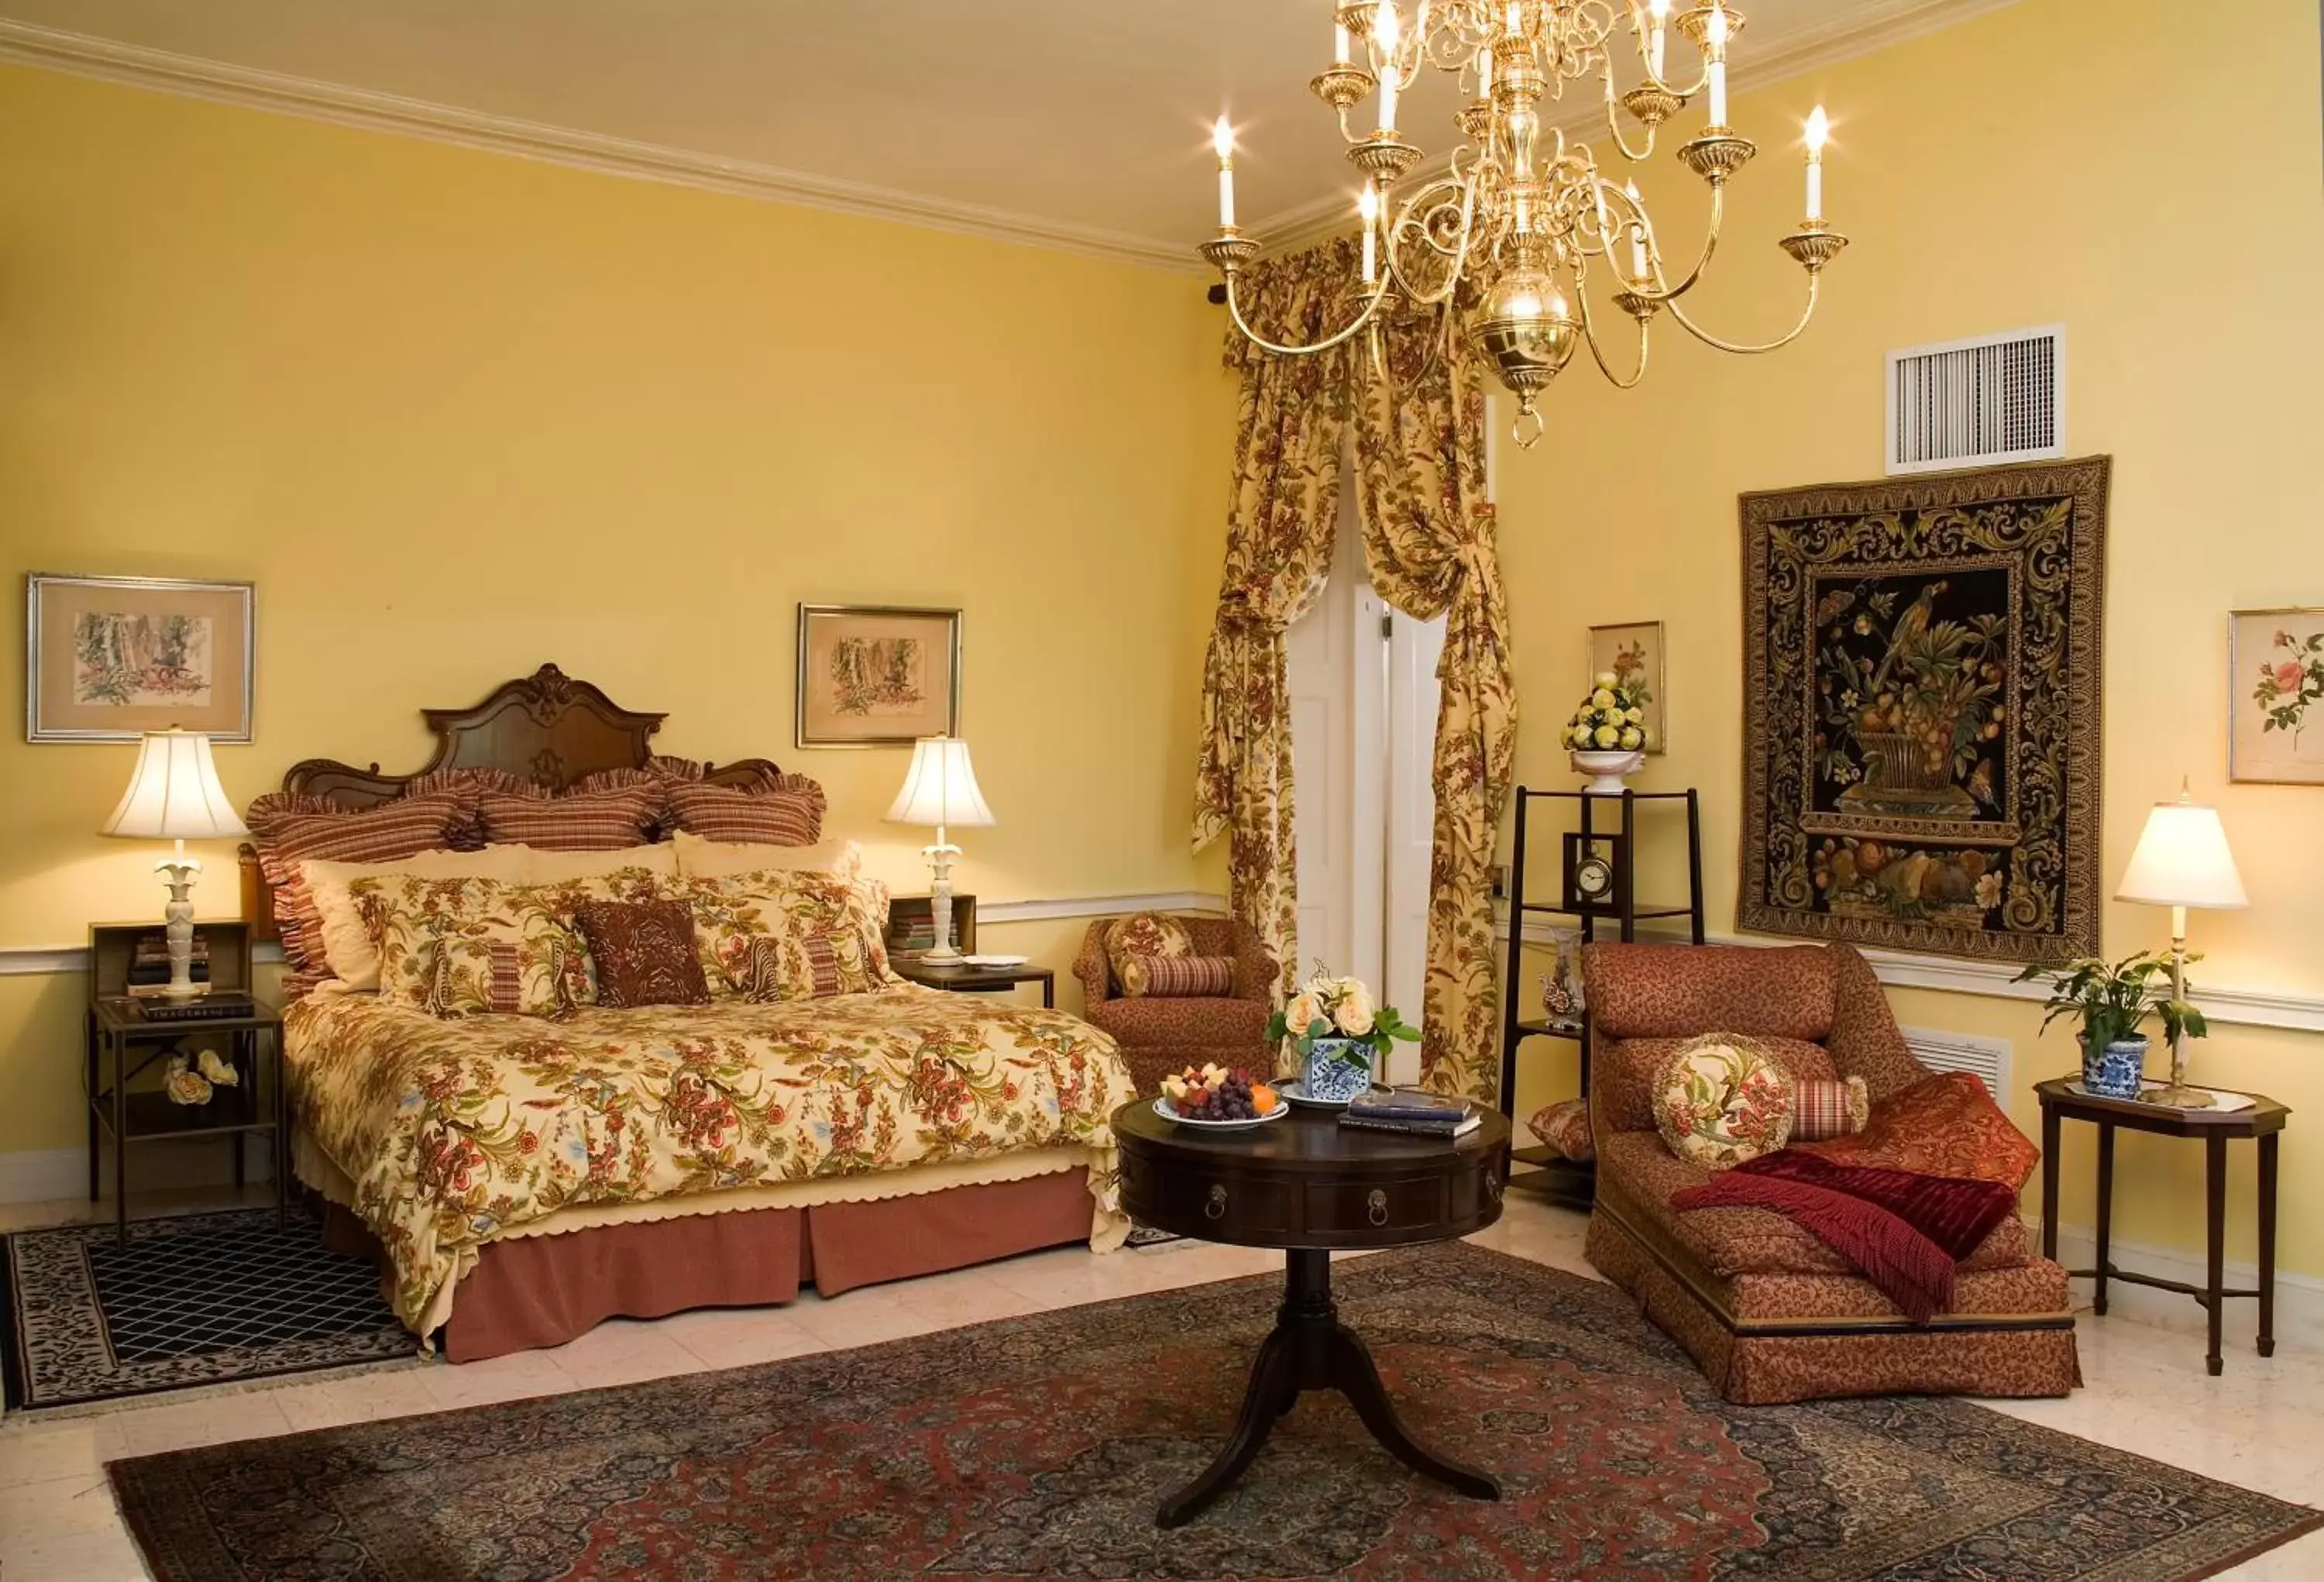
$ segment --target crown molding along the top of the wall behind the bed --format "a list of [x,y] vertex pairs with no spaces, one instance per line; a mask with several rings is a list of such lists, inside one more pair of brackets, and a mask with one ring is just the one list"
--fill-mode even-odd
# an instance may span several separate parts
[[816,177],[753,160],[697,153],[693,149],[669,149],[565,125],[493,116],[479,109],[349,88],[309,77],[260,72],[223,60],[179,56],[165,49],[144,49],[142,44],[119,44],[86,33],[40,28],[5,16],[0,16],[0,63],[91,77],[130,88],[153,88],[158,93],[209,100],[211,105],[265,109],[365,132],[418,137],[456,149],[511,153],[516,158],[590,170],[607,177],[630,177],[632,181],[660,181],[665,186],[690,186],[702,193],[855,214],[860,218],[1081,253],[1085,258],[1167,269],[1171,274],[1208,272],[1208,265],[1178,242],[1048,221],[944,197],[923,197],[885,186]]

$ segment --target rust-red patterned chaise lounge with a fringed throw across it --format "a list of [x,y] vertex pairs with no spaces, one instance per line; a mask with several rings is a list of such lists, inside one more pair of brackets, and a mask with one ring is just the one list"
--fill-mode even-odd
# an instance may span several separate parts
[[1941,1078],[1913,1057],[1862,955],[1585,945],[1583,985],[1597,1143],[1590,1261],[1720,1394],[1773,1405],[1896,1392],[2061,1396],[2080,1385],[2066,1271],[2033,1252],[2015,1213],[1959,1259],[1952,1310],[1915,1324],[1783,1215],[1671,1208],[1673,1192],[1710,1171],[1664,1145],[1652,1090],[1669,1055],[1699,1034],[1750,1036],[1792,1080],[1862,1076],[1866,1164],[2024,1182],[2033,1145],[1975,1078]]

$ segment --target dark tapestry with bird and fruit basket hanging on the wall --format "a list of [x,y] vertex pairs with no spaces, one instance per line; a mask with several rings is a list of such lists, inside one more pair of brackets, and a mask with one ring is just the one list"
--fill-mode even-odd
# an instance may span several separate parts
[[1738,925],[2099,950],[2108,458],[1743,495]]

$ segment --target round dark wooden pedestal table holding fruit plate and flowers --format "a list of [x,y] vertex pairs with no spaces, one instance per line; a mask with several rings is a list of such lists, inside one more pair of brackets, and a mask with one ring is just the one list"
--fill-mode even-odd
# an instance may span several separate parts
[[1329,1110],[1292,1110],[1250,1131],[1176,1127],[1134,1099],[1113,1113],[1122,1150],[1122,1208],[1160,1231],[1239,1247],[1283,1247],[1283,1308],[1260,1343],[1227,1447],[1162,1501],[1160,1526],[1192,1522],[1260,1454],[1276,1417],[1308,1389],[1336,1389],[1399,1461],[1480,1501],[1501,1498],[1485,1473],[1406,1433],[1380,1371],[1332,1303],[1334,1247],[1452,1241],[1501,1217],[1508,1122],[1480,1110],[1464,1138],[1341,1129]]

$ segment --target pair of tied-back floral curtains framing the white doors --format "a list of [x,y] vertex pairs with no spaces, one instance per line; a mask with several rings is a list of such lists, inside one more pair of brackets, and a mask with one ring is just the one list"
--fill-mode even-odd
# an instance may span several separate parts
[[[1271,339],[1313,341],[1348,323],[1355,244],[1269,260],[1236,302]],[[1204,667],[1195,846],[1232,839],[1229,904],[1297,978],[1297,850],[1283,630],[1322,588],[1339,511],[1339,458],[1355,423],[1357,499],[1371,585],[1420,620],[1446,618],[1436,667],[1436,825],[1420,1064],[1427,1087],[1499,1087],[1494,834],[1508,799],[1518,706],[1508,606],[1485,502],[1485,402],[1436,318],[1385,337],[1390,379],[1350,346],[1276,358],[1227,332],[1243,376],[1227,569]]]

